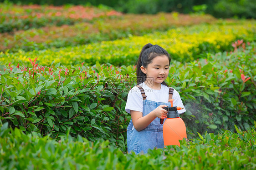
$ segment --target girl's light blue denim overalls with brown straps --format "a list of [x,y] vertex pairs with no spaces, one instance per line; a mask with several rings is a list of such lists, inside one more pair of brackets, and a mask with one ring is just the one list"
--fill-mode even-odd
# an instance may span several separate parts
[[[167,105],[170,107],[170,103],[156,102],[147,100],[145,92],[141,86],[137,87],[140,89],[143,96],[143,116],[148,115],[152,110],[156,109],[159,105]],[[169,98],[173,95],[173,88],[169,90]],[[164,148],[164,137],[163,137],[163,125],[160,124],[160,119],[157,117],[154,119],[145,129],[137,131],[133,129],[133,122],[127,127],[127,147],[128,153],[132,150],[138,155],[141,151],[147,153],[148,149]]]

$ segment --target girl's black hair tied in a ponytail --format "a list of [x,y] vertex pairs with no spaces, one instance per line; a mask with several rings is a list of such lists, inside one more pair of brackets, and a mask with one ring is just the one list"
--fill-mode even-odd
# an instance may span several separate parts
[[[142,50],[140,51],[138,62],[137,62],[137,85],[143,83],[147,75],[140,70],[140,67],[143,65],[145,68],[148,67],[148,64],[152,63],[152,60],[157,56],[167,56],[169,59],[169,64],[171,62],[171,57],[169,53],[164,50],[159,45],[153,45],[153,44],[146,44],[143,46]],[[162,82],[163,85],[168,86],[164,81]]]

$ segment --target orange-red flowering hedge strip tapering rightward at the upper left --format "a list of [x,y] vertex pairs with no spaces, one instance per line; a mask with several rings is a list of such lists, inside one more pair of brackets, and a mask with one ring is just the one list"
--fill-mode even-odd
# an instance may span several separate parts
[[73,25],[94,18],[121,15],[113,10],[84,6],[18,6],[2,3],[0,5],[0,33],[28,30],[46,25]]

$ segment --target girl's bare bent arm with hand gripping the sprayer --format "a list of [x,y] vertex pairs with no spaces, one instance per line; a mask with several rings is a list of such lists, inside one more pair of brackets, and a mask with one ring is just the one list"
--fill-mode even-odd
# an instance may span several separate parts
[[133,121],[133,126],[137,131],[145,129],[155,118],[159,117],[164,119],[167,117],[167,110],[162,107],[167,107],[167,105],[159,105],[155,110],[152,110],[148,115],[142,116],[142,112],[131,110],[131,117]]

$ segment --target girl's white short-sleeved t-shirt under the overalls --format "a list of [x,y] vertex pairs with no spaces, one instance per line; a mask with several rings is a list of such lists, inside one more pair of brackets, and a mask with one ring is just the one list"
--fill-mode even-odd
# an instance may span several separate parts
[[[144,89],[145,95],[147,96],[146,97],[147,100],[168,103],[169,87],[167,87],[166,85],[161,84],[160,90],[151,89],[150,87],[145,85],[144,82],[139,85]],[[179,92],[176,91],[175,89],[174,89],[173,99],[174,99],[173,106],[179,106],[184,108],[184,105],[179,96]],[[131,113],[130,110],[143,112],[143,97],[137,86],[134,86],[128,93],[125,111],[127,111],[128,113]],[[182,110],[178,110],[179,114],[182,114],[185,111],[186,111],[185,108]]]

